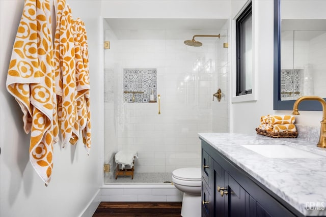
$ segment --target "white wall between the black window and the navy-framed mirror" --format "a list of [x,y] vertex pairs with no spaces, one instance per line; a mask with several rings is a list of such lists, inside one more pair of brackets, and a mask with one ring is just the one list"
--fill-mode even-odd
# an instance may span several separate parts
[[[285,1],[287,2],[287,1]],[[306,1],[310,2],[310,1]],[[253,17],[255,19],[255,46],[257,47],[255,63],[257,68],[257,101],[232,103],[230,105],[230,131],[255,133],[259,126],[260,116],[266,114],[290,114],[291,111],[273,110],[273,0],[253,0]],[[233,11],[232,8],[232,13]],[[232,69],[235,70],[235,69]],[[296,123],[309,126],[320,126],[320,111],[301,111],[296,116]]]

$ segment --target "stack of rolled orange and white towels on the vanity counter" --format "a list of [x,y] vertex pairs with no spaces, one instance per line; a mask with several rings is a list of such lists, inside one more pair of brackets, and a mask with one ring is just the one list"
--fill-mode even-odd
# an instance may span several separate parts
[[296,132],[292,115],[266,115],[260,117],[259,128],[268,132]]

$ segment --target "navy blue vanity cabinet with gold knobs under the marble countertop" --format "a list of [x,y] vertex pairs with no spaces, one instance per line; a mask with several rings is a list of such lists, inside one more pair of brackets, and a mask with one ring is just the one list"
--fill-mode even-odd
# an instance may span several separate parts
[[202,163],[202,216],[303,216],[205,141]]

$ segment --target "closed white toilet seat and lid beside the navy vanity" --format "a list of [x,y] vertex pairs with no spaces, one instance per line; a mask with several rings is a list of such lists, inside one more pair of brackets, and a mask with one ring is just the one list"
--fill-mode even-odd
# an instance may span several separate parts
[[201,168],[187,167],[172,172],[172,181],[187,186],[200,186],[202,182]]

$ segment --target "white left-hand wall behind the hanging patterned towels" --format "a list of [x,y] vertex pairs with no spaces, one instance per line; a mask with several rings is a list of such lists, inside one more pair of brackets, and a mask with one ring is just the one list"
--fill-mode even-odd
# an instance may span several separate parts
[[[74,17],[88,31],[91,79],[92,148],[83,144],[54,147],[52,180],[48,187],[29,163],[30,135],[23,132],[22,112],[6,90],[14,38],[24,1],[0,1],[0,216],[91,216],[98,205],[103,146],[102,69],[99,35],[100,1],[68,1]],[[95,197],[95,200],[93,201]],[[90,205],[90,209],[87,209]]]

